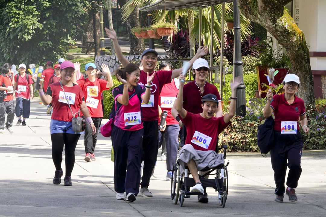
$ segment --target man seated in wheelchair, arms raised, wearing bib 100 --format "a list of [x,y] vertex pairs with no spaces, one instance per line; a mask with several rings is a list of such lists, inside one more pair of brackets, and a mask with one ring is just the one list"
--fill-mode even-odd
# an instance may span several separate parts
[[192,187],[191,192],[204,193],[204,188],[200,182],[198,171],[204,168],[214,168],[224,164],[222,154],[215,152],[218,134],[222,132],[231,122],[236,109],[236,89],[242,83],[240,77],[235,77],[231,87],[231,102],[229,113],[222,117],[215,117],[218,100],[214,94],[207,94],[201,99],[203,112],[193,114],[186,111],[183,107],[183,87],[185,75],[179,76],[180,86],[175,101],[178,116],[186,127],[187,137],[185,145],[179,152],[179,164],[181,174],[188,167],[196,185]]

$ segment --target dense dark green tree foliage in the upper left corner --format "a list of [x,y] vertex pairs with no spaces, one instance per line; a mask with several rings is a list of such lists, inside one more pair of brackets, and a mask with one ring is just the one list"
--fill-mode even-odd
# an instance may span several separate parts
[[7,0],[0,5],[1,62],[55,62],[81,31],[85,0]]

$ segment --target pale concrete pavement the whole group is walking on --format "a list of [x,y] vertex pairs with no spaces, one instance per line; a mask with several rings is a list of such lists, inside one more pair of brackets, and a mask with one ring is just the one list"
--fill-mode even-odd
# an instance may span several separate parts
[[[14,120],[16,124],[17,118]],[[105,121],[103,121],[105,122]],[[113,184],[111,140],[98,136],[96,161],[84,161],[83,136],[76,148],[73,186],[53,185],[50,116],[34,99],[28,126],[13,126],[14,133],[0,134],[0,216],[326,216],[326,150],[304,151],[298,201],[274,202],[270,157],[258,153],[228,153],[229,195],[225,208],[217,194],[208,191],[209,203],[185,198],[184,206],[170,199],[166,165],[158,158],[150,191],[134,203],[117,200]],[[63,156],[65,158],[65,156]],[[64,161],[62,163],[65,171]]]

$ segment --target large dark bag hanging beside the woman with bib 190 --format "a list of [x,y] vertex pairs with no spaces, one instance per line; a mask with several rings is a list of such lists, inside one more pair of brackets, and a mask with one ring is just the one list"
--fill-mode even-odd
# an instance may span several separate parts
[[267,154],[274,146],[274,119],[269,116],[265,123],[258,126],[257,144],[261,154]]

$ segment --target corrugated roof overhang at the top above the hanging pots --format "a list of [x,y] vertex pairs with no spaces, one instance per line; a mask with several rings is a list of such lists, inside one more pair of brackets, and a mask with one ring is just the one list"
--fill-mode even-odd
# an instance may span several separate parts
[[159,0],[154,4],[141,7],[140,10],[177,10],[191,7],[209,7],[233,0]]

